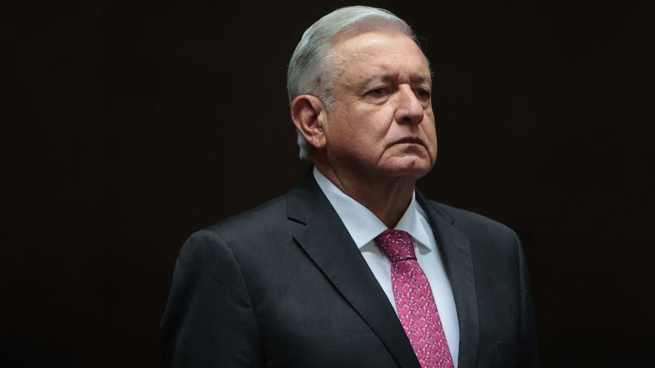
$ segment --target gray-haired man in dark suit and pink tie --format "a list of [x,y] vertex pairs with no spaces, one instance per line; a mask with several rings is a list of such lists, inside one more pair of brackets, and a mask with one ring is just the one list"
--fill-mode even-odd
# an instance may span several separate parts
[[189,238],[164,367],[537,367],[515,233],[415,190],[437,143],[409,26],[335,10],[307,29],[288,77],[312,173]]

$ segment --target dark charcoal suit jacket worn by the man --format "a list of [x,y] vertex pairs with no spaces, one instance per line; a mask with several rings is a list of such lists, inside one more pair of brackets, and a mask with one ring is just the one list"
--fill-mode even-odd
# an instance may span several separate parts
[[[455,296],[459,367],[537,367],[516,234],[417,200]],[[163,367],[419,368],[350,234],[309,175],[290,193],[193,234],[161,324]]]

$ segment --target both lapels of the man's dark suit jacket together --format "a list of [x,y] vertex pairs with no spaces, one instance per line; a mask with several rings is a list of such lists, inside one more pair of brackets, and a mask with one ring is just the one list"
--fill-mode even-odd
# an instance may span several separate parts
[[[416,197],[426,212],[453,287],[460,330],[458,367],[475,367],[479,316],[468,237],[455,227],[451,213],[428,201],[418,189]],[[296,232],[295,240],[362,316],[398,364],[403,368],[419,368],[398,316],[311,172],[289,194],[287,214],[289,219],[306,225]]]

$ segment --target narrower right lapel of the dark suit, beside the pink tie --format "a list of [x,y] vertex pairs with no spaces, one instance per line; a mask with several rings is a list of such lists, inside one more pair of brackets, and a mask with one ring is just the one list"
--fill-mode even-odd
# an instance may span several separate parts
[[449,213],[430,204],[417,190],[417,200],[428,215],[437,240],[446,274],[453,287],[453,297],[459,322],[458,367],[475,367],[479,340],[476,285],[468,237],[453,226]]

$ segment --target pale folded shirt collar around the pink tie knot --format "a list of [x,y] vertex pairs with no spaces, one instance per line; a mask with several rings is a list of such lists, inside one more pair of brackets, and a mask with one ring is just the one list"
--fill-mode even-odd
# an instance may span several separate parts
[[[326,195],[327,200],[341,218],[343,225],[345,225],[358,248],[362,248],[387,229],[386,225],[373,212],[343,193],[341,189],[337,188],[325,175],[318,171],[316,166],[314,166],[314,179],[316,179],[318,187]],[[412,193],[409,206],[400,217],[395,229],[409,232],[414,240],[431,251],[428,233],[419,218],[421,216],[420,209],[421,207],[416,201],[416,193]]]

